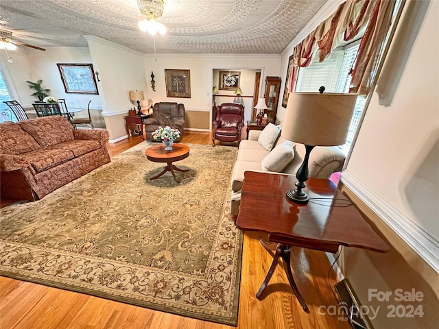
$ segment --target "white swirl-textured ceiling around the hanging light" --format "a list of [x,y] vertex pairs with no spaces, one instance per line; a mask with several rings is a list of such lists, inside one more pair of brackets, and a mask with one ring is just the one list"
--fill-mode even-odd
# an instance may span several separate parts
[[[157,53],[281,53],[327,0],[165,0]],[[137,0],[0,0],[0,29],[38,47],[86,47],[91,34],[154,53]]]

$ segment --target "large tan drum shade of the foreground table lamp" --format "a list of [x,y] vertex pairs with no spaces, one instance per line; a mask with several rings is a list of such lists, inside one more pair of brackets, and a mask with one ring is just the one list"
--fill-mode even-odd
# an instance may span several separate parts
[[346,142],[357,94],[289,93],[281,136],[310,146]]

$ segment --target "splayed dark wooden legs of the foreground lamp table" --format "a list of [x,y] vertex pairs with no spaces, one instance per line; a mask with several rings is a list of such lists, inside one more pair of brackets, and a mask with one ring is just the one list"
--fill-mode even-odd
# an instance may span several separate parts
[[[261,239],[260,239],[260,241],[261,241]],[[262,241],[261,241],[261,243],[262,243]],[[265,243],[265,241],[263,241],[263,242]],[[263,247],[265,247],[265,249],[268,249],[268,245],[265,245],[264,243],[263,243]],[[280,257],[283,260],[284,270],[287,273],[289,285],[293,289],[294,295],[296,295],[296,298],[297,298],[298,302],[300,303],[300,305],[302,306],[303,310],[305,310],[306,313],[309,313],[309,308],[308,308],[307,304],[305,303],[305,300],[303,299],[302,295],[300,295],[300,291],[298,290],[298,288],[296,286],[296,282],[294,282],[293,273],[291,271],[291,263],[289,260],[291,257],[291,251],[289,250],[289,246],[281,245],[281,243],[278,243],[278,245],[276,247],[276,253],[274,254],[274,257],[273,257],[273,263],[270,266],[270,269],[268,270],[267,276],[265,276],[265,280],[262,282],[261,287],[259,288],[259,291],[256,293],[257,299],[259,300],[263,291],[267,287],[268,282],[272,278],[273,273],[274,273],[274,269],[276,269],[276,266],[278,264],[278,260]]]

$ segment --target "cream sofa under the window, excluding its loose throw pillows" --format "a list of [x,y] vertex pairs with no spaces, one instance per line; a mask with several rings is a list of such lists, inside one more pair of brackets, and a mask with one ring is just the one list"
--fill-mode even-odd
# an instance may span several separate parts
[[[230,212],[232,215],[238,215],[239,204],[241,203],[241,188],[244,184],[245,171],[264,171],[262,162],[270,151],[265,149],[259,142],[258,138],[261,131],[250,130],[248,140],[243,140],[239,144],[237,161],[232,173],[232,197],[230,204]],[[305,145],[288,142],[282,136],[279,136],[274,147],[287,142],[292,145],[294,150],[294,158],[282,169],[281,173],[289,173],[295,175],[297,169],[302,164],[305,157]],[[272,151],[274,151],[274,147]],[[337,149],[337,147],[314,147],[309,156],[309,177],[328,179],[332,173],[341,171],[345,156]],[[292,186],[294,187],[294,186]]]

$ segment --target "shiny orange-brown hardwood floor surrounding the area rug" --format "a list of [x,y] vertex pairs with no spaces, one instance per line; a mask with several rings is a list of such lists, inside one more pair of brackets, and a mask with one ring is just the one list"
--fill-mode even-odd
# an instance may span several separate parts
[[[245,138],[245,136],[244,136]],[[137,143],[140,137],[109,144],[115,156]],[[211,144],[209,132],[185,132],[182,142]],[[255,293],[270,268],[272,257],[259,244],[259,235],[246,232],[241,269],[239,296],[240,329],[282,328],[351,328],[337,315],[324,315],[324,306],[336,306],[331,287],[335,274],[323,252],[292,248],[292,269],[298,289],[307,301],[305,313],[292,294],[287,277],[277,267],[262,300]],[[329,282],[329,283],[328,283]],[[319,306],[323,306],[320,307]],[[40,284],[0,277],[1,329],[64,329],[64,328],[161,328],[161,329],[226,329],[234,328],[207,321],[171,315],[156,310],[112,302],[99,297],[64,291]]]

